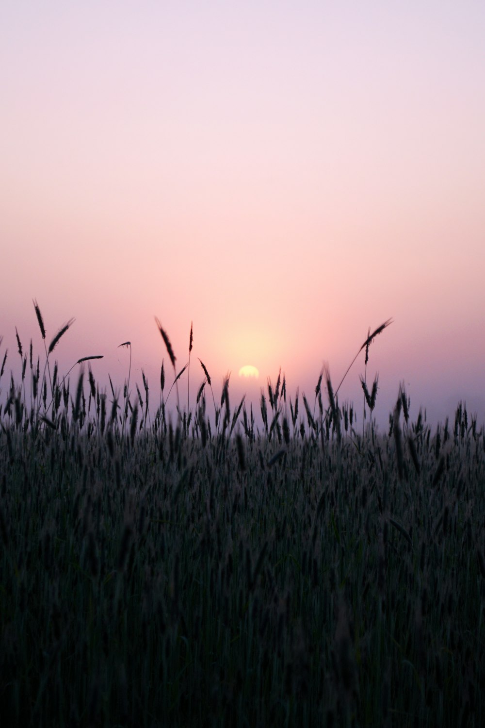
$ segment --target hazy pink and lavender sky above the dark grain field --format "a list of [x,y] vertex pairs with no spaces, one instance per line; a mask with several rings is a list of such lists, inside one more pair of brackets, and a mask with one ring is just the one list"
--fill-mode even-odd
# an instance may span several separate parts
[[[0,347],[485,420],[485,4],[4,0]],[[45,355],[44,355],[45,357]],[[242,379],[253,365],[259,379]],[[360,357],[340,400],[360,409]],[[180,380],[187,386],[186,375]],[[5,388],[5,381],[0,387]]]

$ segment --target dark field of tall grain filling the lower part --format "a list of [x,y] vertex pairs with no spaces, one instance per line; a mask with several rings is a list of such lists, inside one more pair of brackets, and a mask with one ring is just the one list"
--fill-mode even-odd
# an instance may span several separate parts
[[260,432],[204,368],[172,424],[167,387],[152,421],[148,386],[118,401],[89,369],[70,391],[19,350],[2,726],[485,723],[485,434],[465,407],[432,428],[400,389],[378,436],[326,373],[328,408],[322,376],[310,403],[278,377]]

